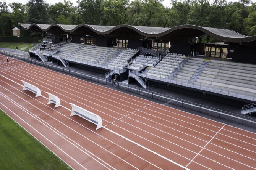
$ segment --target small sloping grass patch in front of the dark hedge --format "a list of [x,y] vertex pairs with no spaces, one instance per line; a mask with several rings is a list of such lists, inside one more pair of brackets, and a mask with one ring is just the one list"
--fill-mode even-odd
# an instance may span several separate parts
[[29,48],[34,47],[36,44],[33,43],[15,43],[15,42],[0,42],[0,47],[2,48],[10,48],[10,49],[15,49],[16,46],[18,47],[19,50],[28,52]]

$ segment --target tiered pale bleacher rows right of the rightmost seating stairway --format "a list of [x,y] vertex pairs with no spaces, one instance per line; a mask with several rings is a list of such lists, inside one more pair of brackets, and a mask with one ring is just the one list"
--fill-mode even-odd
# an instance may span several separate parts
[[256,66],[211,59],[195,84],[205,83],[217,87],[256,93]]

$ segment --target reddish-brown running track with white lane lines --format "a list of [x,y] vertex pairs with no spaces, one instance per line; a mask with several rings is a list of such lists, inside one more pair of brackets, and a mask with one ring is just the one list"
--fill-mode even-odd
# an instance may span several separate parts
[[[256,169],[256,134],[0,55],[0,108],[74,169]],[[22,90],[24,80],[42,96]],[[47,104],[50,92],[61,107]],[[78,116],[76,104],[102,118]]]

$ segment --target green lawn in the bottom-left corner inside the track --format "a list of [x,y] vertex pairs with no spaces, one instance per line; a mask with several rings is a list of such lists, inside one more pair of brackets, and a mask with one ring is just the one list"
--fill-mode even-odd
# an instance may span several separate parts
[[0,170],[71,170],[0,110]]

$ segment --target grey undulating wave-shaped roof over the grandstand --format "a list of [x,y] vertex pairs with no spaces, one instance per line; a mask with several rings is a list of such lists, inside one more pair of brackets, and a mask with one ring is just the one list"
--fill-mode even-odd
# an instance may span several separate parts
[[201,27],[195,25],[181,25],[173,28],[161,28],[161,27],[144,27],[144,26],[130,26],[130,25],[118,25],[118,26],[95,26],[87,24],[79,25],[62,25],[62,24],[21,24],[21,27],[26,30],[40,29],[42,31],[54,30],[56,27],[59,27],[64,32],[75,32],[78,28],[81,29],[91,29],[93,32],[99,35],[108,35],[113,34],[119,29],[133,30],[138,34],[141,34],[145,37],[200,37],[204,34],[208,34],[213,38],[227,41],[227,42],[250,42],[255,41],[256,36],[245,36],[239,34],[238,32],[228,30],[228,29],[219,29],[219,28],[210,28],[210,27]]

